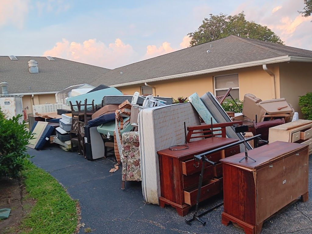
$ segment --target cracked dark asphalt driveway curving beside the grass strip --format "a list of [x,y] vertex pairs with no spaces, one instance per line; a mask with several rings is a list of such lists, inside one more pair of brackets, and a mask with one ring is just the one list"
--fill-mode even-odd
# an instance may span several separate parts
[[[193,215],[194,208],[185,217],[178,216],[170,206],[161,208],[144,202],[140,182],[127,181],[121,190],[121,168],[109,173],[113,168],[113,158],[87,161],[76,152],[65,152],[56,147],[37,151],[29,149],[31,160],[38,167],[49,172],[67,189],[81,206],[81,223],[90,227],[92,233],[207,233],[242,234],[243,230],[232,224],[221,223],[223,206],[202,218],[207,222],[203,227],[199,222],[188,226],[184,219]],[[309,163],[312,163],[310,155]],[[309,200],[298,201],[278,213],[263,224],[261,234],[310,234],[312,233],[312,168],[309,168]],[[212,197],[200,205],[200,212],[222,202],[222,197]],[[80,228],[80,233],[85,233]]]

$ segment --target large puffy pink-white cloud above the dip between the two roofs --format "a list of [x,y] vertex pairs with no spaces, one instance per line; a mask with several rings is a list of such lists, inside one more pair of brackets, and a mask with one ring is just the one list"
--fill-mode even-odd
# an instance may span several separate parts
[[45,51],[43,56],[59,57],[110,69],[133,63],[138,58],[132,46],[124,44],[119,38],[108,46],[96,39],[86,40],[82,44],[62,39],[53,49]]

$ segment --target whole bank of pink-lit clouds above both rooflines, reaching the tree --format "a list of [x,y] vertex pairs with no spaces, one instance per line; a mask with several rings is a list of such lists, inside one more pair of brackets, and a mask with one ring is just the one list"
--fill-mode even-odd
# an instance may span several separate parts
[[119,38],[108,46],[96,39],[89,39],[80,43],[76,41],[70,42],[63,38],[62,41],[57,42],[51,50],[45,51],[42,56],[58,57],[114,69],[137,61],[184,49],[189,46],[189,42],[190,38],[185,36],[177,47],[171,46],[167,41],[163,42],[158,47],[156,45],[148,45],[146,46],[146,53],[139,56],[131,45],[125,44]]

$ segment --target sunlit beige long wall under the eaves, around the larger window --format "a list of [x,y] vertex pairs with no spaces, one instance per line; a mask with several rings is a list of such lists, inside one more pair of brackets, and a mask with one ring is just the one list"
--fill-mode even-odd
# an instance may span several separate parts
[[[276,80],[276,96],[280,97],[279,92],[279,65],[268,65],[268,68],[275,73]],[[274,98],[273,78],[262,69],[262,66],[254,66],[241,69],[233,69],[222,72],[209,73],[199,76],[189,76],[172,80],[163,80],[158,82],[148,82],[149,85],[155,87],[154,95],[178,98],[179,96],[188,97],[197,92],[199,96],[205,92],[214,93],[214,76],[222,76],[238,73],[240,100],[244,99],[246,93],[251,93],[268,100]],[[127,87],[117,87],[123,93],[132,95],[135,91],[141,93],[140,86],[131,85]]]

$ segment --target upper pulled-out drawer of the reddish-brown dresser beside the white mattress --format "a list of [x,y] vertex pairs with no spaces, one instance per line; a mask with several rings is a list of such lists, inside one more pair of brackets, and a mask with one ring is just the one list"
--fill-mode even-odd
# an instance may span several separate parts
[[[221,153],[213,153],[206,156],[212,162],[219,162],[221,159]],[[190,159],[182,163],[182,173],[183,175],[192,175],[194,173],[200,172],[202,170],[202,161],[198,162],[194,159]],[[210,166],[210,163],[206,163],[206,167]]]

